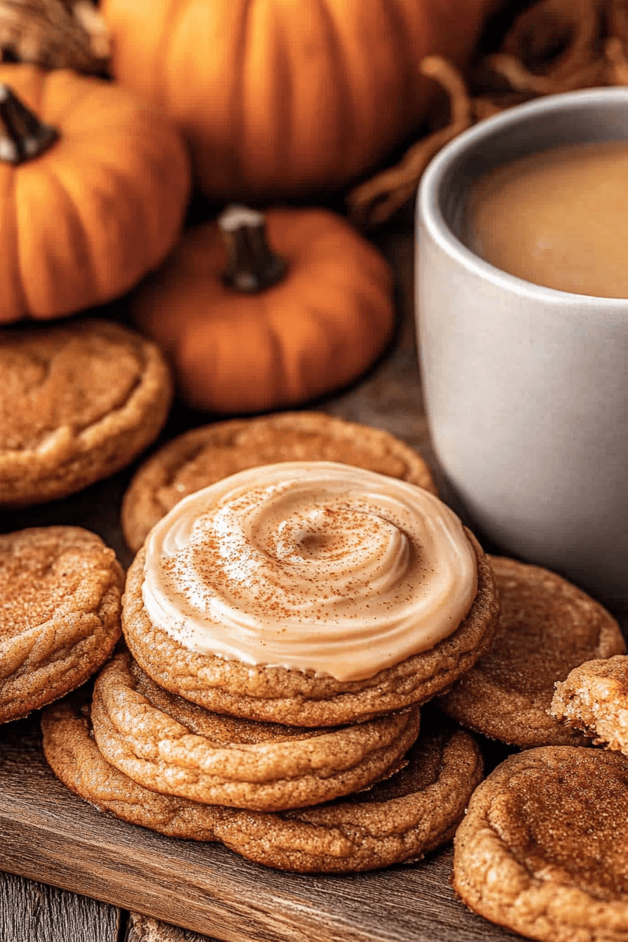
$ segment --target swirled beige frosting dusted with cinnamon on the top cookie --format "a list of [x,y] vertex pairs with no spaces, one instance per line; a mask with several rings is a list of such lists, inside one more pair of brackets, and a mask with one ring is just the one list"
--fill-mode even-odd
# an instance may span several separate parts
[[201,654],[378,674],[458,627],[477,585],[454,512],[332,462],[254,467],[189,495],[146,541],[153,625]]

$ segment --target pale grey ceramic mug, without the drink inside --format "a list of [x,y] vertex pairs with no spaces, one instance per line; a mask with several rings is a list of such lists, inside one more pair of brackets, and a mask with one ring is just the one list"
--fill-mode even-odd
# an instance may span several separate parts
[[546,148],[615,139],[628,139],[628,89],[548,96],[445,147],[419,187],[416,316],[434,448],[472,525],[621,614],[628,299],[524,282],[461,241],[478,176]]

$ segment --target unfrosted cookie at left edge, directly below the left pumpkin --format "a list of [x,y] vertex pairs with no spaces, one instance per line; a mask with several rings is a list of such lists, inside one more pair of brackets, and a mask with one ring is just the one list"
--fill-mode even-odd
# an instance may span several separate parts
[[153,343],[113,321],[0,330],[0,507],[39,504],[119,470],[166,421]]

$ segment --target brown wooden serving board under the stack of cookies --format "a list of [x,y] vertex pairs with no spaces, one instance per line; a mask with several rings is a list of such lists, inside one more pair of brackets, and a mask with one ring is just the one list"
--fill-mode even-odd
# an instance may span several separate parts
[[519,938],[468,912],[451,848],[353,876],[302,876],[217,844],[164,837],[72,795],[40,748],[39,715],[0,727],[0,869],[227,942],[484,942]]

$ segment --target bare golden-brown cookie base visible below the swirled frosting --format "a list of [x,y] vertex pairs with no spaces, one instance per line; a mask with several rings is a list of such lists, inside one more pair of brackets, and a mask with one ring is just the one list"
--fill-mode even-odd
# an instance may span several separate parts
[[184,647],[155,627],[144,609],[144,549],[127,575],[122,630],[134,658],[155,683],[217,713],[299,726],[363,722],[425,703],[488,650],[499,603],[488,560],[473,534],[468,530],[466,534],[477,560],[477,592],[466,618],[429,650],[363,680],[339,681],[313,671],[251,667]]

